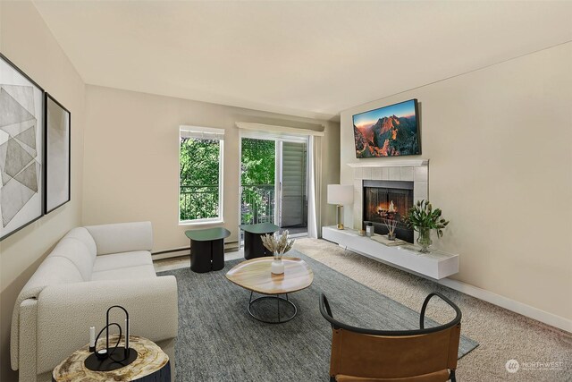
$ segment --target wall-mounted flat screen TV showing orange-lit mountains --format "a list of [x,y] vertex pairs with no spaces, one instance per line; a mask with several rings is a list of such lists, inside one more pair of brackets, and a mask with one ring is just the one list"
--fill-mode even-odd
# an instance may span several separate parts
[[354,115],[353,122],[358,158],[421,154],[416,99]]

